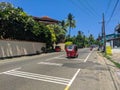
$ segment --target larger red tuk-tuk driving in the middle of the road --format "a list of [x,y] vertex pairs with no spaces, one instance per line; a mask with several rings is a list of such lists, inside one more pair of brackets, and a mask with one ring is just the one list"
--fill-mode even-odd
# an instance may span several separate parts
[[67,57],[78,57],[78,48],[76,45],[69,45],[65,48]]

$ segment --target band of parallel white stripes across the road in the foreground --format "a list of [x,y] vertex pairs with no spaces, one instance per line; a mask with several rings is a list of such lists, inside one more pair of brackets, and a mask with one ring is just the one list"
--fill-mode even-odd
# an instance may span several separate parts
[[53,76],[47,76],[47,75],[41,75],[41,74],[29,73],[29,72],[23,72],[23,71],[16,71],[15,69],[3,72],[3,74],[23,77],[28,79],[34,79],[34,80],[40,80],[40,81],[46,81],[46,82],[52,82],[52,83],[57,83],[62,85],[67,85],[70,82],[70,79],[66,79],[66,78],[53,77]]

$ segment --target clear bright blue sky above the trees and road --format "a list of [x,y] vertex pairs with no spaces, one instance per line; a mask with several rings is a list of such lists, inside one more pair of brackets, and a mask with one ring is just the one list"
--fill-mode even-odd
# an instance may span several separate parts
[[76,28],[71,30],[71,36],[76,36],[78,31],[82,31],[87,37],[93,34],[97,38],[101,34],[103,13],[106,34],[114,33],[115,27],[120,23],[120,2],[113,13],[117,0],[0,0],[0,2],[10,2],[15,7],[21,7],[28,15],[49,16],[60,21],[66,20],[71,13],[76,21]]

